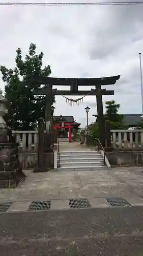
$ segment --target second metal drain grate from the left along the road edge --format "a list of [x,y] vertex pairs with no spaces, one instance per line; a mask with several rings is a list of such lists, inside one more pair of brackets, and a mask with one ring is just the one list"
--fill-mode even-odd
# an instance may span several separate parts
[[33,201],[28,210],[50,210],[51,201]]

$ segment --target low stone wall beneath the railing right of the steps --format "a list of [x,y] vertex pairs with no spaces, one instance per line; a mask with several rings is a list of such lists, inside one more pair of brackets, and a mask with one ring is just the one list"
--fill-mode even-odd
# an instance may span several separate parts
[[111,166],[143,166],[143,151],[107,152],[106,157]]

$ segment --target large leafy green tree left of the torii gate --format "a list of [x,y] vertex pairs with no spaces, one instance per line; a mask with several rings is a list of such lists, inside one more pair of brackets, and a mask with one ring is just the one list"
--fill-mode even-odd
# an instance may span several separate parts
[[[36,45],[31,43],[24,60],[21,49],[17,48],[14,69],[0,67],[2,79],[6,82],[5,96],[11,102],[6,121],[14,130],[34,130],[38,119],[44,118],[45,96],[33,95],[33,90],[40,89],[40,84],[27,80],[30,75],[47,77],[51,74],[49,65],[42,68],[43,56],[43,52],[36,53]],[[54,96],[52,101],[55,102]]]

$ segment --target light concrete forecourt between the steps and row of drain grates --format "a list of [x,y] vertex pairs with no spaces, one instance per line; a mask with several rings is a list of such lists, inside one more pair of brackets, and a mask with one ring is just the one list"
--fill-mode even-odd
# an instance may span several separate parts
[[141,171],[141,167],[41,174],[27,170],[22,184],[15,189],[1,189],[0,202],[126,197],[130,202],[140,204],[143,203]]

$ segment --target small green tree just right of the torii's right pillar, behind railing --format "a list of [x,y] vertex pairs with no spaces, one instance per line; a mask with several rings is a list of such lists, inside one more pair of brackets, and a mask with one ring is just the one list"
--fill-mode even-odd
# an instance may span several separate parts
[[111,129],[122,129],[124,127],[123,115],[118,114],[120,104],[117,104],[115,100],[106,101],[105,104],[105,119],[110,121]]

